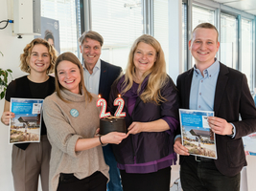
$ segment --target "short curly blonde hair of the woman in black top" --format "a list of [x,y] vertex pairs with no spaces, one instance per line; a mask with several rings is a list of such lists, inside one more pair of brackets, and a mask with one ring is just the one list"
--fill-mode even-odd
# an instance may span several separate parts
[[31,73],[31,68],[29,66],[31,53],[35,45],[38,44],[44,45],[48,49],[50,54],[50,66],[47,69],[46,74],[52,74],[54,72],[55,61],[57,59],[57,51],[46,40],[41,38],[35,38],[33,41],[31,41],[31,43],[27,44],[23,50],[23,53],[20,54],[20,70],[28,74]]

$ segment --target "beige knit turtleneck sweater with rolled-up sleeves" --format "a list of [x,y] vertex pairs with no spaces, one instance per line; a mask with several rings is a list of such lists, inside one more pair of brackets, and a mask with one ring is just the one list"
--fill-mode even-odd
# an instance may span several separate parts
[[[49,176],[51,191],[58,188],[59,173],[74,173],[78,179],[83,179],[101,171],[108,178],[109,169],[105,164],[102,146],[75,152],[78,138],[93,138],[100,125],[97,96],[93,95],[92,101],[85,104],[84,96],[67,90],[60,94],[70,102],[62,101],[54,93],[47,96],[43,103],[47,136],[52,144]],[[74,117],[71,115],[72,109],[79,112],[77,117],[74,113]]]

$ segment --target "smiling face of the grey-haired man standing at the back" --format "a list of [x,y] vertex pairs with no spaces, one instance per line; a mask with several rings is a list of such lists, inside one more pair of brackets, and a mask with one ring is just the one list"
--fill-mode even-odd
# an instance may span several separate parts
[[86,65],[95,66],[102,53],[99,41],[85,38],[80,46],[80,51]]

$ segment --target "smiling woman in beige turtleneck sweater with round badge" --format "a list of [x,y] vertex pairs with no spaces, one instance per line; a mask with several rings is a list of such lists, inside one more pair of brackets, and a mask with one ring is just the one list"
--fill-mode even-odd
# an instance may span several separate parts
[[50,189],[58,191],[105,191],[108,166],[102,144],[119,144],[125,133],[95,134],[100,126],[98,97],[83,81],[77,56],[62,53],[55,66],[56,93],[44,101],[44,119],[52,144]]

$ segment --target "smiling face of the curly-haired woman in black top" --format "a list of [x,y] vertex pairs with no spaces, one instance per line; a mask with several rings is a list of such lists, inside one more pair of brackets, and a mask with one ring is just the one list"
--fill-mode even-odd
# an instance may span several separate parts
[[50,66],[50,53],[48,48],[42,44],[35,44],[32,49],[30,57],[30,69],[31,74],[43,73],[46,74],[47,69]]

